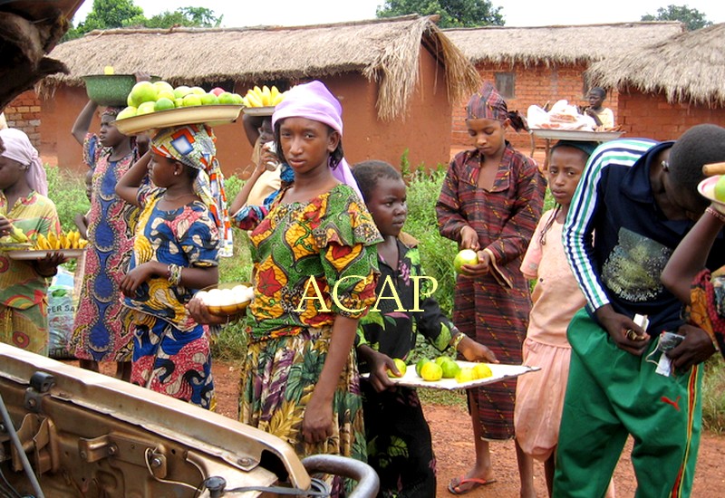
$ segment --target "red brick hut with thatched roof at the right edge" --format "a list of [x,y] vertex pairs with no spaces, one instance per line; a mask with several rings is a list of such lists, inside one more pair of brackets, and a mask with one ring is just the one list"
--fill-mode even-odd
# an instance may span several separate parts
[[630,136],[676,139],[700,123],[725,126],[725,24],[677,34],[595,62],[591,80],[613,89]]

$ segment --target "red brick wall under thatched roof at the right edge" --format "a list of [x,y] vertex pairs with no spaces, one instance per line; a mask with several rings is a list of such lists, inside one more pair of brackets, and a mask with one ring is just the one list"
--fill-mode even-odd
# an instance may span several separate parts
[[723,107],[671,104],[662,94],[639,91],[620,91],[616,114],[628,137],[668,140],[677,139],[685,130],[701,123],[725,127]]

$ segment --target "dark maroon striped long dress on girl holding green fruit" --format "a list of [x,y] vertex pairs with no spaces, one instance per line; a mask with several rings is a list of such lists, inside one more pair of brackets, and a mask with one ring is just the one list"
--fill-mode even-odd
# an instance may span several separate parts
[[[531,296],[519,267],[541,216],[546,182],[536,163],[508,142],[491,190],[478,187],[482,163],[478,150],[460,152],[450,163],[436,204],[440,235],[460,243],[461,228],[470,226],[492,262],[483,277],[458,277],[453,321],[501,363],[520,364]],[[470,392],[483,437],[512,438],[516,380]]]

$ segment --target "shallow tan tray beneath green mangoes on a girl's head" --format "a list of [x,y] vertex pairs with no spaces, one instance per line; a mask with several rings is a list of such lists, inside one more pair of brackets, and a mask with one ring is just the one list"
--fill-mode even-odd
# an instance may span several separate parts
[[185,124],[208,123],[209,126],[231,123],[239,117],[241,104],[200,105],[179,107],[177,109],[160,110],[115,120],[113,124],[124,135],[135,135],[150,129],[169,128]]

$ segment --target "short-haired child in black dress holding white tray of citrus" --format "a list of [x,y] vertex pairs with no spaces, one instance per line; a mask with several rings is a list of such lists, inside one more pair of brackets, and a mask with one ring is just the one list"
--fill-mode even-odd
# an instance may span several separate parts
[[408,357],[418,332],[438,350],[458,350],[469,361],[496,358],[459,332],[435,299],[417,302],[411,277],[424,274],[420,253],[398,238],[408,215],[401,174],[388,163],[366,161],[353,168],[353,175],[383,240],[377,246],[381,278],[376,293],[390,298],[392,285],[405,310],[397,310],[397,301],[381,299],[380,311],[369,311],[358,326],[360,368],[370,372],[370,381],[362,382],[368,463],[380,476],[380,496],[434,497],[435,457],[418,393],[414,388],[394,388],[387,370],[399,373],[392,359]]

